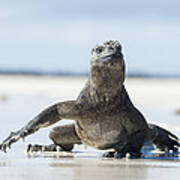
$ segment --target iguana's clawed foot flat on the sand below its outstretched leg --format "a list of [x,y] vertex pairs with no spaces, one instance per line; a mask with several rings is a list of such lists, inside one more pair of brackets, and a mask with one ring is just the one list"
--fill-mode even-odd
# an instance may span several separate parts
[[58,151],[64,151],[64,149],[56,144],[50,144],[50,145],[32,145],[29,144],[27,147],[27,152],[58,152]]

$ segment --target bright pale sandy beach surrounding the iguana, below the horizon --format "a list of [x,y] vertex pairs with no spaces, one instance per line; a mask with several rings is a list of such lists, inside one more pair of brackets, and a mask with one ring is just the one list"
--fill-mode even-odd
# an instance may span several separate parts
[[[45,107],[75,99],[85,77],[0,76],[0,141],[18,130]],[[180,137],[180,79],[127,79],[127,91],[148,122],[161,125]],[[69,121],[68,121],[69,122]],[[64,124],[63,120],[58,124]],[[179,179],[180,161],[105,160],[99,156],[77,158],[28,157],[29,143],[49,144],[42,129],[25,142],[0,152],[0,179]],[[76,149],[83,149],[77,146]],[[91,149],[90,149],[91,150]],[[86,151],[86,150],[85,150]],[[93,151],[93,150],[92,150]]]

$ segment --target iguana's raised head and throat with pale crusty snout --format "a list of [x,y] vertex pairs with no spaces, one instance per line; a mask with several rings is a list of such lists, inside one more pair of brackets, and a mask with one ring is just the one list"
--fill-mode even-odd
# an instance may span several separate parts
[[92,49],[90,77],[93,84],[111,89],[123,83],[125,63],[121,50],[121,44],[112,40]]

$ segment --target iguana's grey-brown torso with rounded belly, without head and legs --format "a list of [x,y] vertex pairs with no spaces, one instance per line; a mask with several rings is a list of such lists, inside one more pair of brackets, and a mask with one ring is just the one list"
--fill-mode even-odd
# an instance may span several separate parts
[[103,94],[96,94],[96,91],[91,96],[93,91],[88,87],[81,92],[76,106],[80,107],[82,113],[75,127],[84,144],[98,149],[114,148],[120,143],[124,146],[128,136],[148,129],[144,117],[131,103],[124,86],[121,91],[114,97],[109,96],[108,100]]

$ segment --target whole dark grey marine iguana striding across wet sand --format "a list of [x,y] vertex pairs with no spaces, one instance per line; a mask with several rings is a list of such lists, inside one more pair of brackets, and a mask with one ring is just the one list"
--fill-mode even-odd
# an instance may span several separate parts
[[114,149],[105,157],[122,158],[126,153],[140,157],[141,147],[151,141],[156,147],[177,150],[179,139],[169,131],[148,124],[133,105],[124,86],[125,62],[118,41],[107,41],[91,51],[90,75],[76,100],[48,107],[27,125],[0,144],[7,147],[20,139],[50,126],[61,119],[73,119],[75,124],[53,128],[49,146],[29,145],[28,151],[71,151],[75,144],[86,144],[97,149]]

